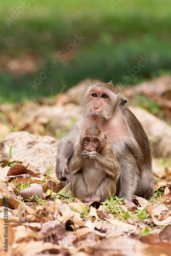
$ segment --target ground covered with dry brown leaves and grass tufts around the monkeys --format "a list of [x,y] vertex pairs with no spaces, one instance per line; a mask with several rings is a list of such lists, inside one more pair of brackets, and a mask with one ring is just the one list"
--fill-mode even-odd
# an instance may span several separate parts
[[[146,97],[141,106],[168,121],[170,77],[160,79],[154,80],[151,86],[140,84],[126,89],[124,94],[132,104],[136,103],[135,99],[139,101]],[[162,86],[161,92],[157,89],[161,89],[160,82],[164,84],[164,81],[165,87]],[[155,93],[152,84],[155,84]],[[0,131],[6,131],[4,138],[2,135],[1,146],[10,145],[11,141],[5,142],[5,139],[9,138],[11,132],[16,136],[24,133],[25,136],[32,136],[33,140],[37,134],[41,134],[41,140],[43,137],[50,138],[44,135],[59,138],[67,133],[77,117],[73,112],[77,109],[77,99],[74,97],[78,89],[77,86],[73,93],[70,91],[57,96],[55,102],[41,98],[37,102],[0,105]],[[57,116],[60,122],[56,126],[49,119],[49,113],[53,111],[61,115]],[[57,140],[54,141],[57,143]],[[19,139],[18,144],[22,144]],[[105,202],[86,204],[72,197],[71,184],[62,189],[56,175],[51,173],[52,166],[47,165],[46,173],[42,173],[41,164],[35,169],[21,157],[25,149],[20,149],[16,156],[15,147],[9,146],[6,159],[4,147],[0,149],[1,256],[171,255],[170,158],[154,156],[159,170],[156,172],[154,167],[155,194],[151,200],[135,196],[130,202],[111,197]],[[42,148],[34,150],[38,159]],[[36,153],[31,154],[33,158]]]

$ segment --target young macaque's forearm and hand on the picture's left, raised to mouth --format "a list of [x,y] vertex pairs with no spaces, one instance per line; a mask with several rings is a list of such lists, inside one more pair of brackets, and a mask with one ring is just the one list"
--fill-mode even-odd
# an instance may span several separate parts
[[84,166],[86,159],[88,158],[89,158],[88,151],[86,150],[82,151],[81,148],[79,148],[76,156],[73,158],[71,162],[72,174],[75,175],[77,172],[79,172],[79,170],[82,169],[82,167]]

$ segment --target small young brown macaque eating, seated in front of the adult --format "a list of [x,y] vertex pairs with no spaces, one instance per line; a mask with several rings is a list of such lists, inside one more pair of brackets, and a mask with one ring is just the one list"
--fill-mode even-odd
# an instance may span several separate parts
[[116,193],[120,166],[105,133],[97,125],[81,134],[80,146],[71,162],[75,176],[72,191],[74,197],[84,202],[105,201]]

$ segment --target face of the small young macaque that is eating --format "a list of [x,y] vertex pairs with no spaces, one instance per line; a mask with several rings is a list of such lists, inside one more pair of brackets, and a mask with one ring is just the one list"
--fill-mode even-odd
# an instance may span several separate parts
[[84,150],[97,151],[100,146],[100,141],[96,136],[85,136],[82,140]]

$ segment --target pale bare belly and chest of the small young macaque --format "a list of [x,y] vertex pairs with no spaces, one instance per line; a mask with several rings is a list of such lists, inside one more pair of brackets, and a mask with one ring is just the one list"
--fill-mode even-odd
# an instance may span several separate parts
[[103,170],[95,160],[86,160],[83,178],[89,190],[96,190],[105,177]]

